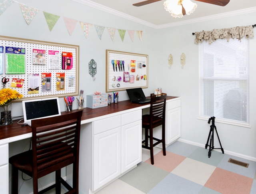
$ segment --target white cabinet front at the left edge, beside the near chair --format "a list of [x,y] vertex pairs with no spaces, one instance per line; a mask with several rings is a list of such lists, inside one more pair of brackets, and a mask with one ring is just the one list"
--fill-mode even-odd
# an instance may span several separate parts
[[0,191],[1,193],[9,193],[8,183],[8,144],[0,146]]

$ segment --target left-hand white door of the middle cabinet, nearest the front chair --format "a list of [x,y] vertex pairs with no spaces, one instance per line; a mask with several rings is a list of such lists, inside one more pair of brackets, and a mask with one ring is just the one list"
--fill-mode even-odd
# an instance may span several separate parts
[[94,135],[93,190],[121,174],[120,139],[120,127]]

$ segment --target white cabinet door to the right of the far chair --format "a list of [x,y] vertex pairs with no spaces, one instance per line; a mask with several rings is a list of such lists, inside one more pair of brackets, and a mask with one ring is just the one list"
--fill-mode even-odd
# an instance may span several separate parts
[[180,107],[167,111],[166,144],[176,141],[180,137]]

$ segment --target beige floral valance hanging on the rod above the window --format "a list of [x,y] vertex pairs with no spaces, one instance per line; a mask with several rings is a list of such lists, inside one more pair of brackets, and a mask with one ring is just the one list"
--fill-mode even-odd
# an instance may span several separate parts
[[253,38],[254,36],[252,25],[194,32],[193,35],[196,36],[195,44],[202,43],[203,41],[212,44],[212,42],[216,41],[217,39],[226,39],[229,42],[230,38],[241,40],[243,37]]

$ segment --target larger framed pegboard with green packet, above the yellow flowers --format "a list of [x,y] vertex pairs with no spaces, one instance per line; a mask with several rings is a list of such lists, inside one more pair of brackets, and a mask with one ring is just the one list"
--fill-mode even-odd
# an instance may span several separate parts
[[79,46],[7,36],[0,46],[0,79],[24,96],[17,101],[79,94]]

